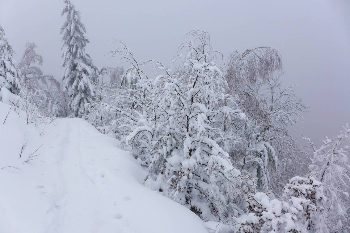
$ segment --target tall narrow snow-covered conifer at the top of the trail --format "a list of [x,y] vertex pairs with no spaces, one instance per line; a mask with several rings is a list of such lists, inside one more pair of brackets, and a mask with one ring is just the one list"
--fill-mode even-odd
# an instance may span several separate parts
[[64,3],[66,5],[61,15],[66,14],[67,19],[61,27],[61,50],[65,67],[63,82],[70,98],[69,107],[74,116],[78,117],[84,112],[84,105],[92,102],[93,82],[97,81],[99,68],[85,52],[89,40],[86,38],[85,26],[80,21],[80,12],[69,0],[64,0]]

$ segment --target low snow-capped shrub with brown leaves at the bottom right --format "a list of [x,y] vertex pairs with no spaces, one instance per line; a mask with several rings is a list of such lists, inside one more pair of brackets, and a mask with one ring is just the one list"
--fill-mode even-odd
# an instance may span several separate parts
[[248,198],[248,213],[236,219],[235,232],[329,232],[323,206],[323,187],[313,177],[295,176],[281,199],[263,192]]

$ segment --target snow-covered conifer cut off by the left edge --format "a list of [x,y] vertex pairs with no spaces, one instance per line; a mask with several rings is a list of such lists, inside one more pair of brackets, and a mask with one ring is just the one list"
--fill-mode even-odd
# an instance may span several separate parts
[[18,94],[21,89],[19,72],[13,60],[14,53],[8,44],[3,28],[0,26],[0,100],[5,95],[5,89],[14,94]]

